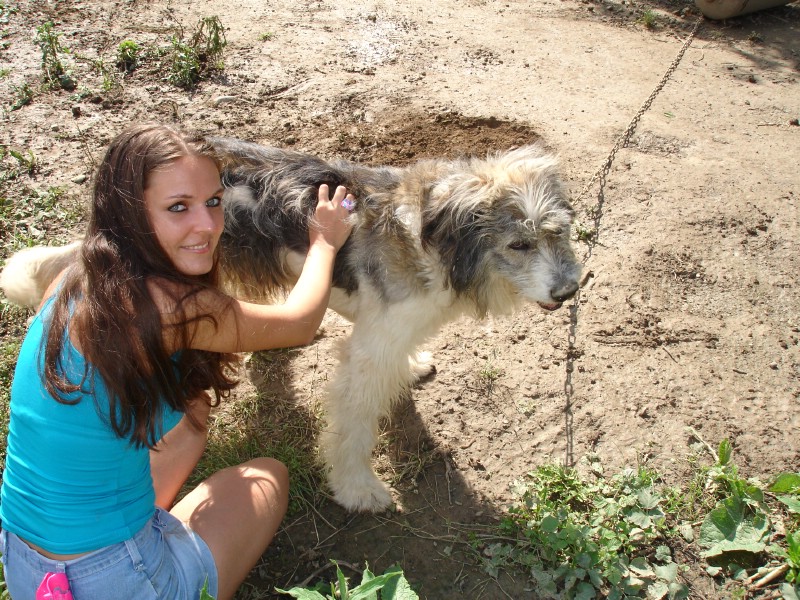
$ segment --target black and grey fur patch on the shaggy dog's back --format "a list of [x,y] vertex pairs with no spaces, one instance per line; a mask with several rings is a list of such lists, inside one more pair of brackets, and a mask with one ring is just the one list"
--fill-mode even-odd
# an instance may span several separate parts
[[[286,250],[308,250],[308,223],[317,204],[317,190],[328,184],[331,194],[343,185],[358,198],[359,221],[365,221],[371,191],[389,191],[398,179],[388,168],[373,169],[343,160],[326,162],[315,156],[260,146],[232,138],[213,138],[222,160],[222,183],[243,186],[247,194],[230,193],[225,202],[223,261],[245,289],[274,292],[291,276],[276,272]],[[378,211],[381,212],[382,211]],[[358,288],[357,265],[348,260],[353,239],[340,250],[334,285],[348,292]]]

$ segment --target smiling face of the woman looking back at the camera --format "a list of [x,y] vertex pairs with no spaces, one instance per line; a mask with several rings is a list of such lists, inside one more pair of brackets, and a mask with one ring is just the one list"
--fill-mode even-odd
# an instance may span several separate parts
[[159,244],[184,275],[214,266],[222,235],[222,185],[214,162],[184,156],[150,173],[145,207]]

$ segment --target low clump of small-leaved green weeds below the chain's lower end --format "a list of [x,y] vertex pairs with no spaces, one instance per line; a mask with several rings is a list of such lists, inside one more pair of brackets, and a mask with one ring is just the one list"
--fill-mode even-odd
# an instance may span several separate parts
[[597,465],[593,473],[586,479],[546,465],[517,482],[518,500],[501,523],[504,538],[515,541],[483,549],[487,572],[496,577],[501,568],[524,568],[543,598],[687,597],[663,543],[655,474],[627,469],[605,478]]

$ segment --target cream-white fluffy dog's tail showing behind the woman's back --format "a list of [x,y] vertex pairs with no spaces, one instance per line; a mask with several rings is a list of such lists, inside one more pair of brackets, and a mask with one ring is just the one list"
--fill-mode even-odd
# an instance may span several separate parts
[[0,271],[0,289],[11,302],[36,308],[58,274],[77,260],[79,247],[80,242],[73,242],[20,250]]

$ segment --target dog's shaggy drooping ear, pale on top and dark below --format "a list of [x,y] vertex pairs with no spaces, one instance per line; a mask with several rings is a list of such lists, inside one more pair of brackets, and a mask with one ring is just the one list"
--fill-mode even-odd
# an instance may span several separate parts
[[459,173],[433,186],[423,204],[422,247],[439,254],[457,294],[469,292],[485,268],[493,188],[490,177]]

